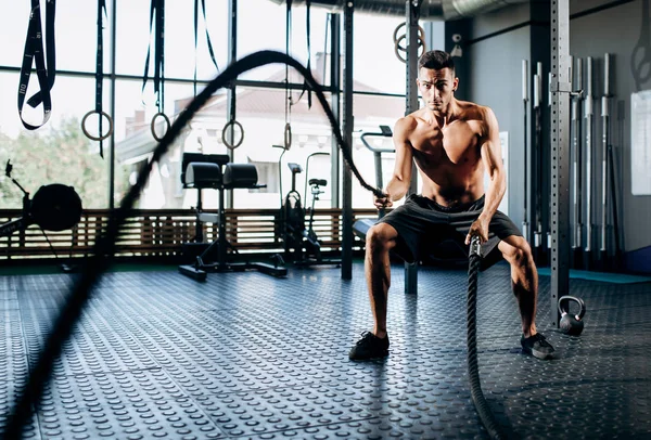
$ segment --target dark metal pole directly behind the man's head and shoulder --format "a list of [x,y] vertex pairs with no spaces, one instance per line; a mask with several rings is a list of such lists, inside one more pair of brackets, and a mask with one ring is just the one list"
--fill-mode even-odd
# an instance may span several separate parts
[[[405,115],[409,115],[418,109],[418,88],[416,78],[418,78],[418,18],[420,16],[420,0],[407,0],[407,56],[405,65],[407,68],[407,90],[405,93],[406,105]],[[417,191],[418,170],[416,164],[411,166],[411,183],[408,193]],[[405,293],[416,294],[418,292],[418,258],[413,264],[405,263]]]

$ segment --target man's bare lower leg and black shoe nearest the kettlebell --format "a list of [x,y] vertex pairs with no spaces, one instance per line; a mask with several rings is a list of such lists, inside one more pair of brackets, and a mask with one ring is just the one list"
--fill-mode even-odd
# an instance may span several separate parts
[[518,235],[503,238],[498,248],[511,266],[511,286],[522,319],[523,349],[536,358],[548,359],[553,352],[553,347],[536,331],[538,271],[532,249],[526,240]]

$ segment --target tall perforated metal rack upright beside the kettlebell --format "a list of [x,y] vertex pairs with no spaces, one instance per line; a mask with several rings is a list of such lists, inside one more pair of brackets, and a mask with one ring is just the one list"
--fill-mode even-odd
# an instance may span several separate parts
[[570,287],[570,0],[551,1],[551,321]]

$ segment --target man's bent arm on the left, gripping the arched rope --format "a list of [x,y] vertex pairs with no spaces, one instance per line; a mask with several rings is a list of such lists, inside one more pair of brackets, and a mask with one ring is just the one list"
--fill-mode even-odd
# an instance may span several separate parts
[[393,141],[396,148],[396,163],[393,176],[385,189],[386,194],[390,196],[386,206],[391,206],[392,202],[403,198],[409,190],[413,157],[409,134],[416,129],[416,119],[408,116],[398,119],[394,127]]

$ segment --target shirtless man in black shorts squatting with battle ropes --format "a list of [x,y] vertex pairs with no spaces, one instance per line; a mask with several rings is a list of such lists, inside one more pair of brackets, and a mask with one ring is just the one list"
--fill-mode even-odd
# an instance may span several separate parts
[[[421,56],[417,85],[425,107],[396,122],[394,173],[384,190],[387,197],[375,198],[374,203],[378,208],[391,207],[407,194],[412,160],[422,178],[422,194],[408,196],[403,206],[367,234],[365,271],[375,325],[372,332],[362,334],[349,358],[367,360],[388,354],[390,250],[411,262],[442,240],[458,237],[469,245],[471,236],[478,235],[483,256],[499,250],[511,266],[511,286],[522,318],[523,351],[549,359],[553,347],[536,332],[538,273],[531,248],[518,227],[497,210],[507,185],[495,114],[488,107],[455,98],[459,78],[446,52],[431,51]],[[486,189],[485,171],[490,177]]]

